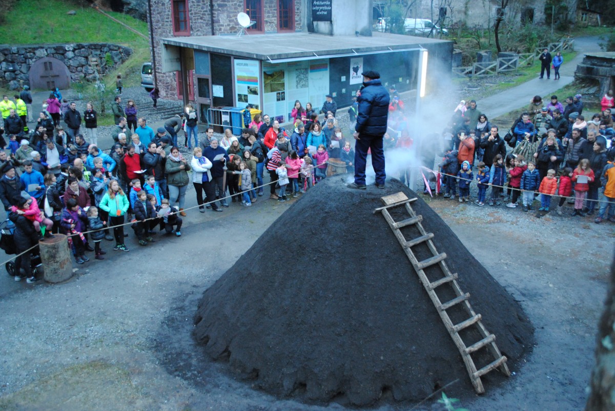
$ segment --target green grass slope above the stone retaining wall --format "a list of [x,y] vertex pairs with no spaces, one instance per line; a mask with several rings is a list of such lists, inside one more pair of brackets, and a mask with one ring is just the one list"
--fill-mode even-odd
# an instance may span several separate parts
[[[75,10],[76,15],[66,14]],[[121,13],[108,12],[140,33],[148,25]],[[2,44],[39,44],[67,42],[110,42],[147,44],[146,39],[114,22],[89,6],[61,0],[18,0],[4,15],[0,26]]]

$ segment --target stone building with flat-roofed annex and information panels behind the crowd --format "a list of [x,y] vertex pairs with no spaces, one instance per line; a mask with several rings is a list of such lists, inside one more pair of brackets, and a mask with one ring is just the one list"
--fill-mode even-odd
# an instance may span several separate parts
[[[151,0],[156,84],[164,98],[212,108],[248,104],[288,122],[295,100],[349,106],[363,67],[416,88],[419,50],[450,73],[452,42],[371,33],[368,0]],[[237,14],[253,24],[241,33]]]

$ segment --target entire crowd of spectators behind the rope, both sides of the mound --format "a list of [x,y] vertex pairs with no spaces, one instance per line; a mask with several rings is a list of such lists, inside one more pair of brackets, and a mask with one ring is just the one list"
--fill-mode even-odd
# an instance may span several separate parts
[[[374,84],[381,87],[378,77]],[[121,80],[118,84],[119,91]],[[378,93],[386,95],[382,89]],[[384,123],[378,123],[378,130],[386,130],[383,149],[411,149],[413,139],[403,100],[393,86],[385,97],[380,100],[386,101],[388,112],[385,105],[379,115]],[[347,111],[351,127],[357,116],[366,117],[360,114],[356,100]],[[602,103],[603,110],[585,121],[581,95],[566,98],[566,106],[557,96],[552,96],[550,103],[536,96],[501,137],[499,128],[480,112],[474,100],[461,101],[442,135],[428,136],[442,141],[444,152],[424,144],[419,154],[427,169],[441,157],[436,174],[445,198],[468,202],[475,183],[478,206],[507,202],[515,208],[521,198],[524,211],[528,211],[539,193],[540,209],[548,211],[550,198],[560,195],[558,214],[563,214],[566,198],[570,198],[574,216],[592,215],[598,209],[595,222],[615,221],[613,93],[607,93]],[[93,251],[95,259],[104,259],[102,240],[114,241],[116,251],[129,251],[126,225],[141,246],[155,241],[159,232],[180,237],[190,183],[199,212],[210,209],[220,213],[231,203],[251,206],[263,196],[266,186],[271,200],[285,202],[299,197],[327,178],[330,162],[345,163],[346,171],[354,173],[354,144],[345,136],[349,130],[343,130],[336,119],[337,105],[331,95],[319,111],[309,102],[304,106],[296,101],[292,131],[280,127],[268,114],[255,114],[244,119],[247,126],[239,136],[230,128],[216,136],[209,127],[200,138],[197,112],[191,105],[154,131],[139,117],[133,100],[124,104],[121,96],[116,96],[112,104],[116,127],[108,152],[98,146],[97,113],[92,103],[81,113],[56,89],[43,102],[34,130],[28,130],[28,120],[34,120],[31,104],[27,88],[14,102],[7,96],[0,102],[4,119],[0,131],[9,139],[7,143],[0,135],[0,145],[10,149],[8,155],[0,151],[0,200],[15,226],[20,254],[15,261],[15,280],[27,278],[29,283],[36,281],[31,274],[30,250],[54,233],[68,236],[77,264],[89,261],[86,252]],[[183,151],[188,149],[191,156],[180,151],[181,130],[185,135]],[[403,170],[400,179],[409,182],[408,178],[409,170]],[[377,186],[384,187],[384,181]]]

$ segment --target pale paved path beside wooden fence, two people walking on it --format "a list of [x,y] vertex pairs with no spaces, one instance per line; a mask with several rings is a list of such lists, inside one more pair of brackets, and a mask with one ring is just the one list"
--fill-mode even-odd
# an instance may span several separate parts
[[[509,88],[501,93],[483,98],[477,103],[478,109],[485,112],[489,119],[495,119],[507,112],[522,108],[530,104],[530,99],[535,95],[549,95],[550,93],[571,84],[574,80],[574,71],[576,66],[583,60],[584,52],[599,52],[600,37],[578,37],[574,41],[574,49],[579,53],[571,61],[565,61],[560,68],[560,79],[547,80],[536,77],[528,82],[518,85],[517,87]],[[553,72],[551,72],[553,76]],[[566,96],[558,96],[563,104]]]

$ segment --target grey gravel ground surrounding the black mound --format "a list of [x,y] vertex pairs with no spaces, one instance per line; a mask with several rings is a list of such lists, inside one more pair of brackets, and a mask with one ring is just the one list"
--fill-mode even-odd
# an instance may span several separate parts
[[[143,88],[126,88],[123,100],[130,95],[138,96],[141,108],[151,104]],[[170,108],[177,104],[169,102]],[[166,118],[148,117],[150,125]],[[347,115],[338,117],[348,136]],[[109,130],[101,127],[99,135]],[[101,146],[110,147],[111,137],[106,138]],[[520,208],[423,198],[536,327],[533,353],[513,370],[510,383],[488,387],[459,406],[582,409],[613,260],[614,225],[569,213],[536,218]],[[131,234],[128,253],[117,254],[103,241],[106,260],[79,266],[63,284],[31,285],[0,276],[0,409],[343,409],[336,402],[306,405],[253,389],[208,361],[191,335],[205,289],[296,201],[301,197],[282,204],[260,197],[249,209],[231,204],[224,213],[188,211],[183,237],[157,236],[156,243],[138,248]],[[189,191],[186,206],[195,205]],[[290,227],[288,233],[288,245],[292,235],[301,236]],[[375,409],[412,406],[385,399]],[[442,407],[427,401],[415,409]]]

